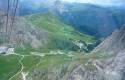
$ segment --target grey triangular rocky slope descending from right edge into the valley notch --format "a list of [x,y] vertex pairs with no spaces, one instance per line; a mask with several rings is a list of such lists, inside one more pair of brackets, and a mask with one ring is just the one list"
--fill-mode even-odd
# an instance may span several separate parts
[[125,49],[125,27],[116,30],[104,40],[93,52],[107,52],[108,54],[117,54]]

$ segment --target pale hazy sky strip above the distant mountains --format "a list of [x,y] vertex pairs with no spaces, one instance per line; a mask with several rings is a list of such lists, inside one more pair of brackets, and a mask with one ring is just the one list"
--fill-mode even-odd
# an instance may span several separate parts
[[[2,4],[2,2],[5,3],[6,1],[7,0],[0,0],[0,5]],[[34,3],[40,3],[41,1],[52,2],[55,0],[20,0],[20,1],[31,1]],[[123,4],[125,4],[125,0],[60,0],[60,1],[92,3],[92,4],[99,4],[99,5],[123,5]]]

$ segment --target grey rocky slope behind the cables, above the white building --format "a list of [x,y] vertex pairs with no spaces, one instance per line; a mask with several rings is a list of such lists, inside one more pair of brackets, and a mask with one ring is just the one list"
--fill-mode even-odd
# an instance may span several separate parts
[[[11,45],[13,47],[25,47],[26,45],[32,48],[43,47],[47,44],[48,33],[42,29],[34,27],[24,18],[16,17],[13,26],[8,26],[6,29],[6,15],[0,13],[0,44]],[[8,25],[11,25],[11,16],[9,17]],[[7,31],[7,32],[6,32]]]

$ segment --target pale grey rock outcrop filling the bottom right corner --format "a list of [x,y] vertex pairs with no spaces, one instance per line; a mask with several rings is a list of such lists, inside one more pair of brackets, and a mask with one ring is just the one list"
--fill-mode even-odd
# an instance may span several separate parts
[[105,71],[109,80],[125,80],[125,50],[119,52]]

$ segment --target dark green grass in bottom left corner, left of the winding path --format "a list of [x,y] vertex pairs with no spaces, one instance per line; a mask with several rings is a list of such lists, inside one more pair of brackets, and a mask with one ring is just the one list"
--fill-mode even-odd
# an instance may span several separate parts
[[0,55],[0,80],[8,80],[21,69],[18,56]]

